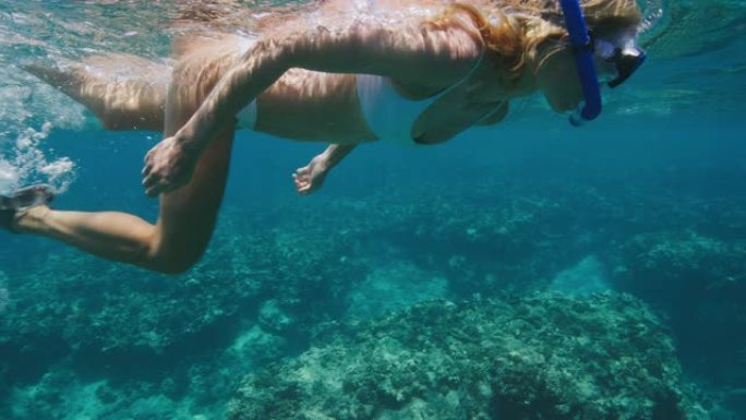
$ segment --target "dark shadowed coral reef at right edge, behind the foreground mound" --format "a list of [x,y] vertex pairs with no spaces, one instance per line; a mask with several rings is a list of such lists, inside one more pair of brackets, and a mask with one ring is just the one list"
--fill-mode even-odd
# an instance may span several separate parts
[[710,381],[746,385],[746,241],[693,230],[638,235],[618,252],[616,287],[661,310],[685,362]]

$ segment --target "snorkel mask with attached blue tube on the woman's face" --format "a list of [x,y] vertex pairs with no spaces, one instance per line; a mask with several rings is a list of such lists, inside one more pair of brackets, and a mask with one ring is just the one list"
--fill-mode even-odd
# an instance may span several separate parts
[[579,0],[560,0],[560,5],[565,15],[565,26],[573,46],[583,96],[583,104],[569,119],[573,125],[578,127],[586,121],[594,120],[601,113],[601,86],[595,71],[595,58],[611,64],[615,70],[616,76],[607,83],[613,88],[624,83],[642,65],[646,53],[633,41],[617,46],[611,40],[594,39],[588,33]]

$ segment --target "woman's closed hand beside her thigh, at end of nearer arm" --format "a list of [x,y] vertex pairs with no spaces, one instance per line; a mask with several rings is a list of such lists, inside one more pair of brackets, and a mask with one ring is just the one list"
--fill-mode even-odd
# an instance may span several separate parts
[[145,193],[156,196],[186,184],[194,172],[196,157],[176,136],[164,139],[145,155]]

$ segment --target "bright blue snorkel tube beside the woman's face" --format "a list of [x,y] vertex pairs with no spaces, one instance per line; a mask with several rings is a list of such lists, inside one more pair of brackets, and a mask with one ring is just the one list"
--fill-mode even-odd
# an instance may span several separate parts
[[585,103],[570,116],[570,123],[575,127],[582,125],[586,121],[594,120],[601,113],[601,86],[595,73],[593,61],[593,44],[588,34],[586,17],[582,15],[579,0],[560,0],[562,12],[565,15],[565,26],[569,34],[570,45],[575,55],[575,64],[578,68],[580,86]]

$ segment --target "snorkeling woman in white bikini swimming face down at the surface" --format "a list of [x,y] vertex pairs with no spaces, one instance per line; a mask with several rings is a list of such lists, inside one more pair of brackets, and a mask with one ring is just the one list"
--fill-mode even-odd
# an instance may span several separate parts
[[[629,73],[636,0],[583,0],[581,8],[595,70]],[[446,142],[500,122],[510,99],[534,92],[561,112],[583,98],[578,46],[553,0],[325,0],[263,27],[256,39],[179,39],[173,69],[113,55],[67,70],[29,67],[107,128],[164,131],[143,169],[160,211],[155,225],[123,213],[56,211],[47,205],[51,192],[34,187],[1,197],[0,226],[181,273],[212,236],[239,128],[332,143],[294,173],[308,193],[359,144]],[[136,71],[107,77],[107,67]]]

